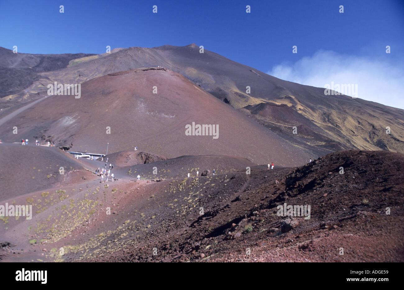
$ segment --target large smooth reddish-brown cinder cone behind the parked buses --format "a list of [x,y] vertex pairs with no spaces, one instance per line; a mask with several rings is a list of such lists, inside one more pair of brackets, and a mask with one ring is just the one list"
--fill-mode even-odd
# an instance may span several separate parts
[[[186,126],[193,123],[212,129],[205,136],[186,135]],[[139,147],[168,158],[223,154],[280,166],[328,152],[303,142],[292,144],[180,74],[157,68],[90,80],[82,84],[80,99],[48,97],[4,123],[1,139],[18,141],[13,126],[18,136],[54,141],[72,151],[103,152],[109,142],[110,151]]]

